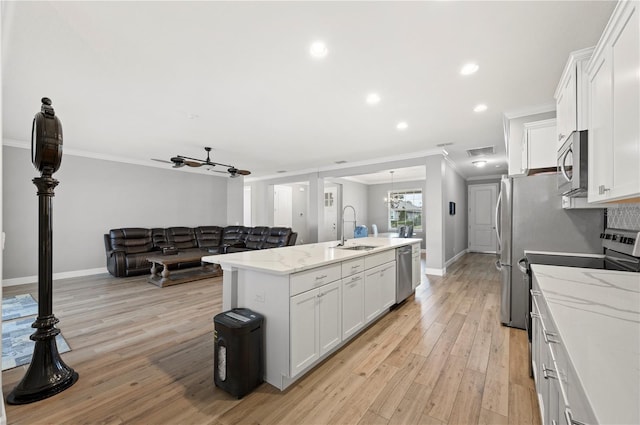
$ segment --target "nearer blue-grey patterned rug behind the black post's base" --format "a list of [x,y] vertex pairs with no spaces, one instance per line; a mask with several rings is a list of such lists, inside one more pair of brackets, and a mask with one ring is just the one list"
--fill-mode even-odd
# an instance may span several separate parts
[[[22,366],[31,361],[35,342],[29,336],[35,332],[31,327],[33,317],[2,322],[2,370]],[[59,353],[71,351],[69,344],[62,337],[56,337]]]

